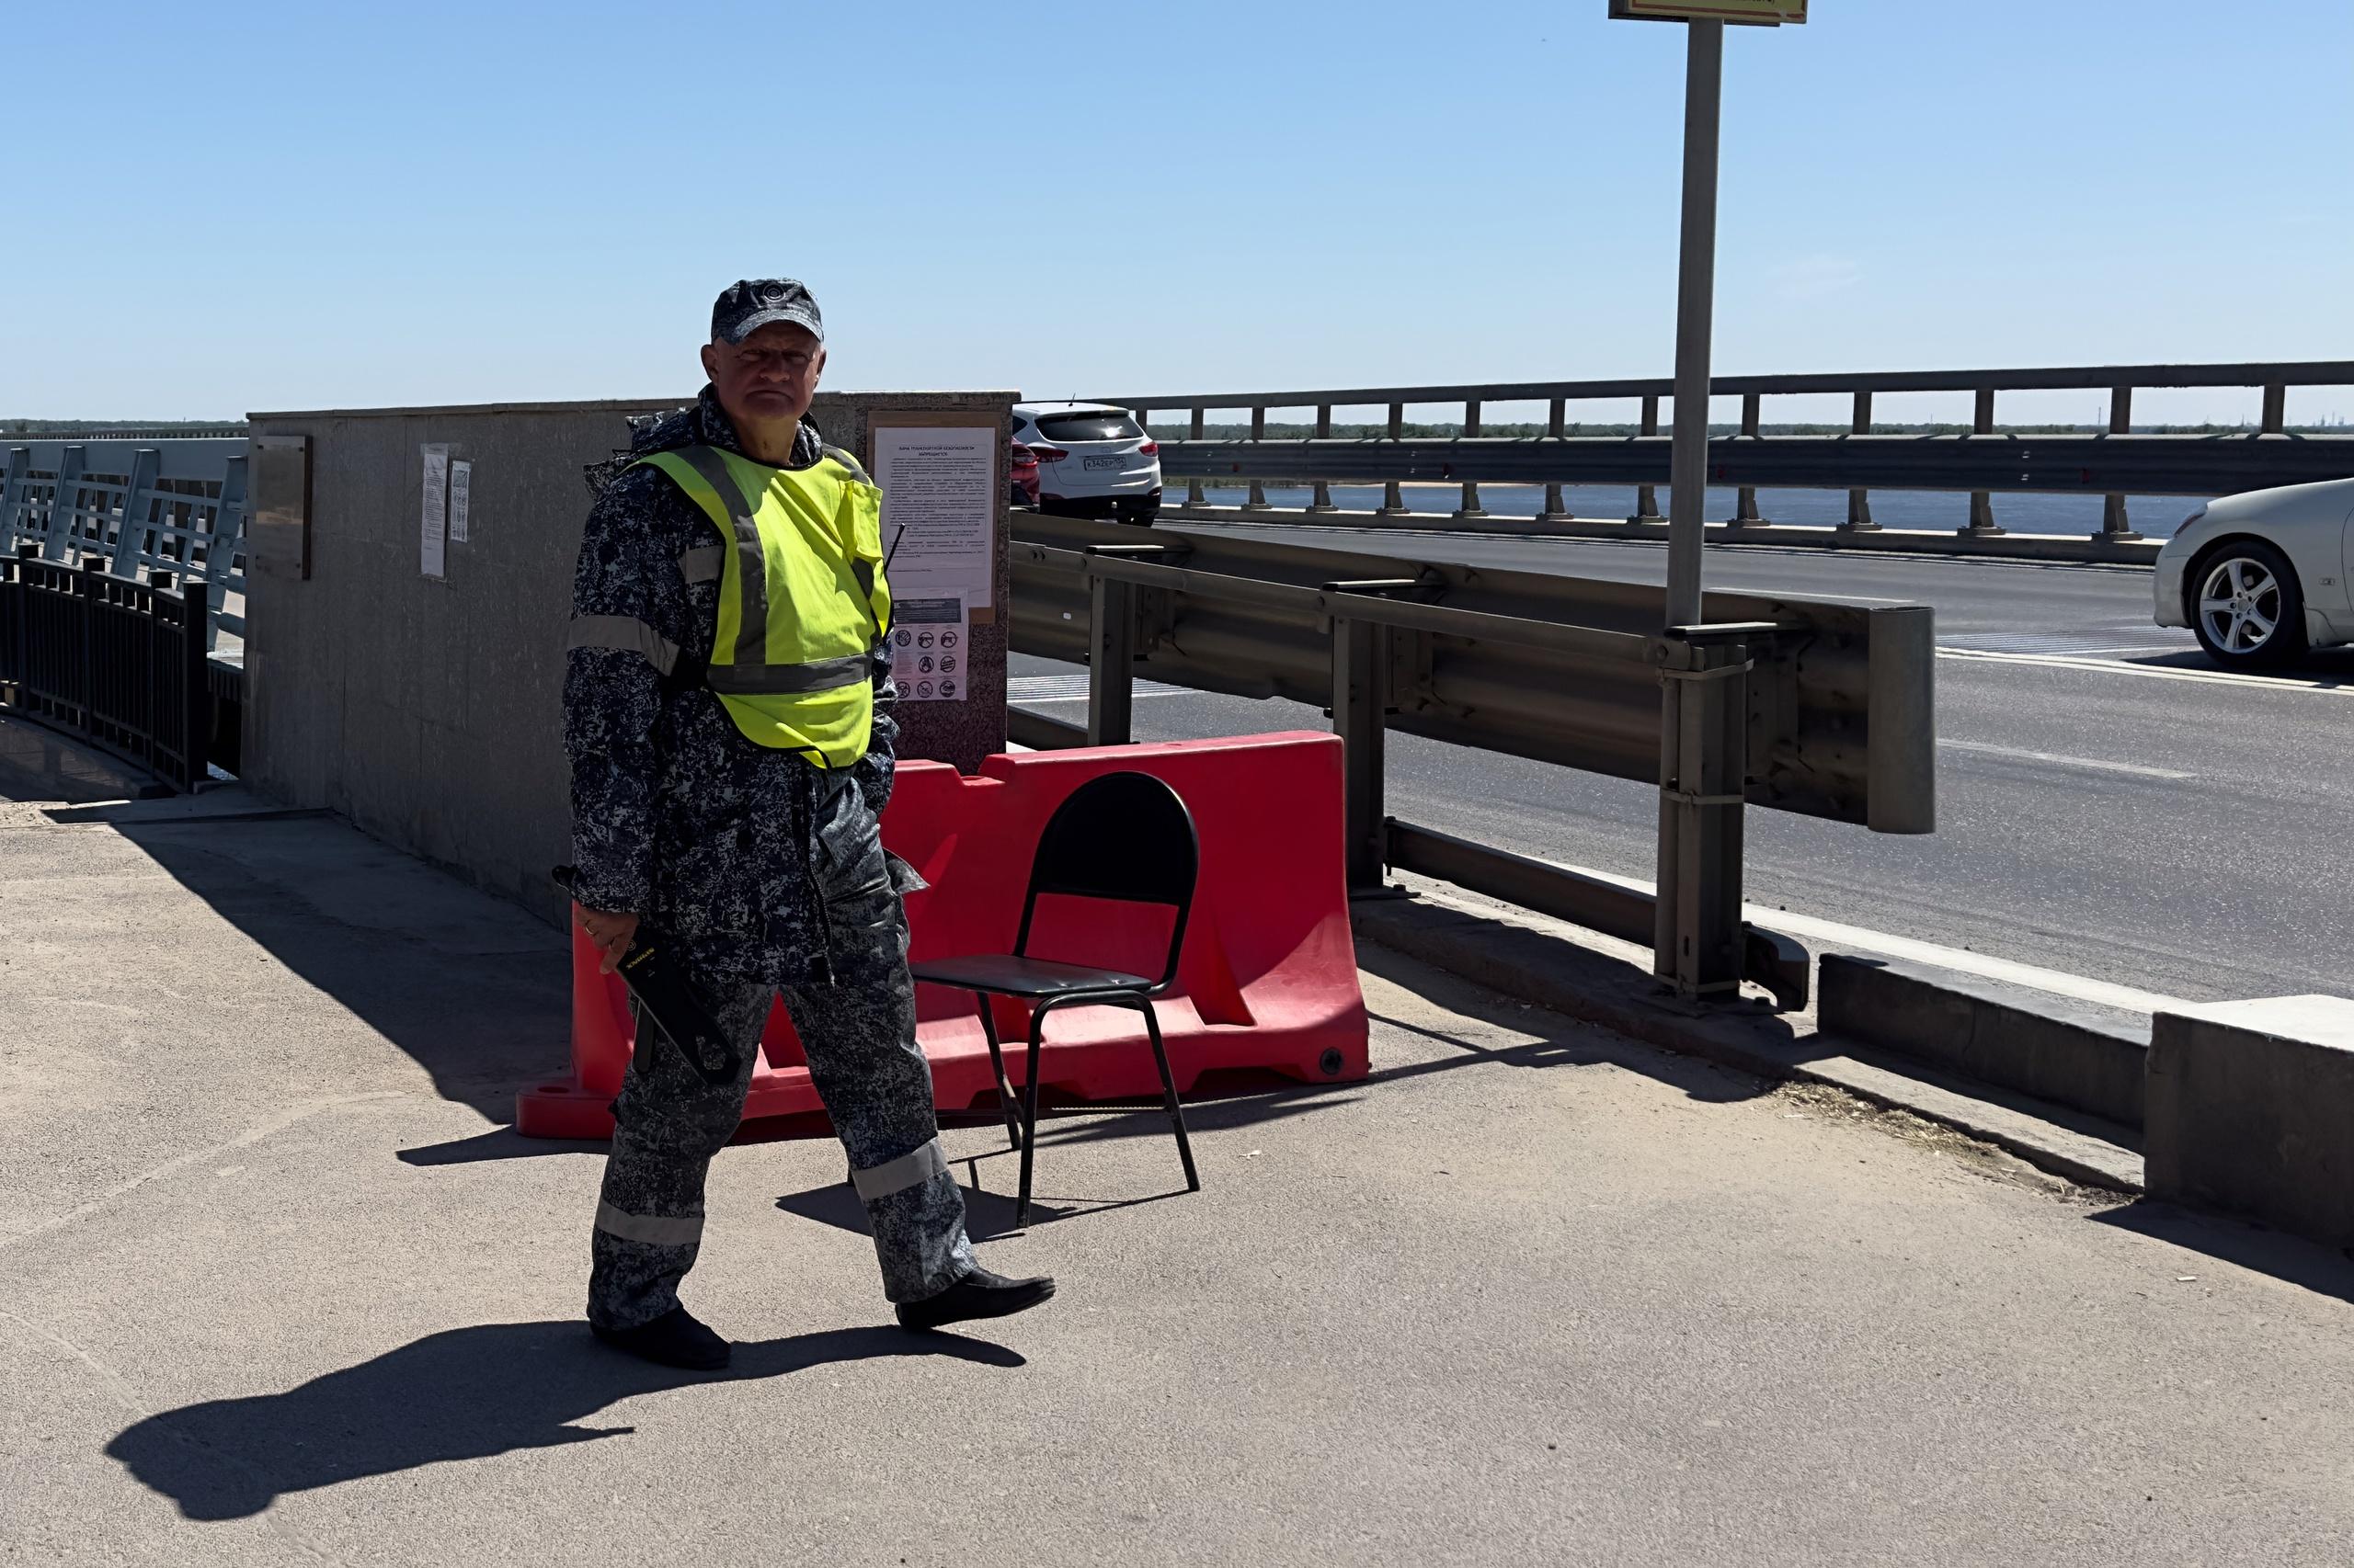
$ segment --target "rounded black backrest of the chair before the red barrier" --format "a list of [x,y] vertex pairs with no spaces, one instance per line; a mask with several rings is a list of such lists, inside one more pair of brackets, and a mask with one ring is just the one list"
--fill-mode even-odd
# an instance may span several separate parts
[[1201,836],[1193,831],[1193,812],[1165,779],[1149,772],[1088,779],[1055,808],[1038,836],[1015,954],[1029,951],[1031,913],[1043,892],[1168,904],[1177,911],[1177,923],[1170,930],[1168,968],[1153,982],[1156,991],[1165,989],[1177,979],[1198,873]]

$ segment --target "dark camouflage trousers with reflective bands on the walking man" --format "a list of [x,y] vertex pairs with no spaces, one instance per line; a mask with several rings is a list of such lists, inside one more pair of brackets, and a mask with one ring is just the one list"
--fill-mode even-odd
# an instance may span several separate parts
[[[975,1267],[965,1198],[932,1116],[932,1067],[916,1045],[906,911],[857,789],[824,803],[812,873],[831,925],[831,984],[694,982],[730,1043],[732,1076],[706,1083],[680,1045],[640,1022],[612,1107],[612,1156],[591,1234],[593,1323],[633,1328],[678,1304],[678,1281],[701,1245],[704,1175],[744,1116],[772,996],[793,1015],[810,1078],[850,1156],[883,1264],[883,1295],[918,1302]],[[720,1076],[720,1062],[706,1067]]]

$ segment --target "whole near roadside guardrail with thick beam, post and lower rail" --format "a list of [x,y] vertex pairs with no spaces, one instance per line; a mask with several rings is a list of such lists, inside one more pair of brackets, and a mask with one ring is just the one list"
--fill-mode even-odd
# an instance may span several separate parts
[[[1714,596],[1723,619],[1660,633],[1660,591],[1629,584],[1073,518],[1022,516],[1017,532],[1012,645],[1085,662],[1090,702],[1085,730],[1017,713],[1015,739],[1125,742],[1137,673],[1323,706],[1344,739],[1358,892],[1389,864],[1620,937],[1641,925],[1662,975],[1723,977],[1697,991],[1747,975],[1803,1005],[1806,954],[1740,921],[1742,808],[1935,824],[1923,607]],[[1657,784],[1662,838],[1681,836],[1697,873],[1648,897],[1391,819],[1389,730]]]

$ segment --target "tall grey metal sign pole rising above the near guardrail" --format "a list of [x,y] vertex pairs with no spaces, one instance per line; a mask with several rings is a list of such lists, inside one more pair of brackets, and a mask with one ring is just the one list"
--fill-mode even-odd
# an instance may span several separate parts
[[1716,313],[1716,120],[1725,24],[1688,21],[1683,75],[1683,261],[1676,285],[1676,443],[1667,501],[1667,624],[1700,612],[1700,546],[1709,485],[1709,330]]

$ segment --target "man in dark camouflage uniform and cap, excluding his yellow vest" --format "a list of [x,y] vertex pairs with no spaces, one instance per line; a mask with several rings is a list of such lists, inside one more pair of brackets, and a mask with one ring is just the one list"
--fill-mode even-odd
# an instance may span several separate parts
[[883,852],[890,800],[890,655],[876,643],[866,756],[819,768],[753,744],[697,678],[711,657],[723,551],[734,539],[652,452],[720,447],[770,469],[831,457],[807,421],[824,370],[817,304],[793,280],[737,283],[711,311],[711,384],[694,407],[636,421],[631,452],[591,469],[565,669],[579,923],[610,970],[659,932],[666,963],[718,1024],[699,1064],[640,1017],[614,1099],[591,1236],[588,1323],[666,1366],[718,1368],[727,1342],[687,1316],[678,1283],[704,1224],[704,1172],[734,1132],[770,998],[800,1031],[810,1076],[850,1156],[883,1293],[909,1328],[1003,1316],[1048,1278],[982,1269],[916,1045],[899,895],[920,881]]

